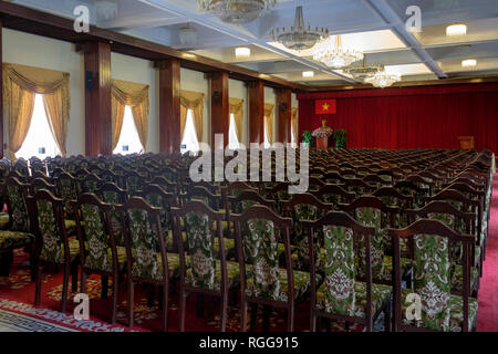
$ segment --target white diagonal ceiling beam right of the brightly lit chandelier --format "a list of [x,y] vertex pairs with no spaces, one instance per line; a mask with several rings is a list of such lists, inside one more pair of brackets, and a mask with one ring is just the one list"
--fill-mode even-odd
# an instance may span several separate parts
[[439,79],[446,79],[446,75],[434,59],[425,51],[416,37],[406,31],[405,21],[394,11],[386,0],[363,0],[363,2],[373,11],[376,11],[385,21],[392,25],[393,32],[400,38],[406,46],[414,50],[427,67]]

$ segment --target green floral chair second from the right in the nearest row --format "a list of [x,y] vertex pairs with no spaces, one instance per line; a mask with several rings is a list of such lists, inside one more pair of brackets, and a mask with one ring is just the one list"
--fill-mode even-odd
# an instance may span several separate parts
[[[310,258],[311,331],[317,330],[318,317],[356,322],[372,331],[373,322],[384,312],[388,323],[392,288],[372,281],[371,240],[375,228],[360,225],[343,211],[331,211],[317,221],[302,221],[302,225],[308,230],[309,242],[312,242],[312,235],[317,235],[324,248],[323,284],[314,281],[320,271],[314,250]],[[359,253],[365,258],[363,281],[357,280]]]

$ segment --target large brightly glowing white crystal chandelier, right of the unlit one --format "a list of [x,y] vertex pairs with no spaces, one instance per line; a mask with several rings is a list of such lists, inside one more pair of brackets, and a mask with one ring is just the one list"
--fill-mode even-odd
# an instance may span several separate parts
[[350,66],[363,59],[363,53],[356,50],[344,50],[341,35],[335,35],[335,45],[332,37],[325,38],[314,46],[313,60],[333,69]]

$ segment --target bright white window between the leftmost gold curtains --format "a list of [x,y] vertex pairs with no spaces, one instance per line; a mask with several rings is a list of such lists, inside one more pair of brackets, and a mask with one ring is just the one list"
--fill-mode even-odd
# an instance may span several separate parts
[[21,148],[15,153],[15,157],[29,159],[37,156],[40,159],[60,155],[58,144],[50,131],[49,121],[43,105],[43,95],[34,96],[33,116]]

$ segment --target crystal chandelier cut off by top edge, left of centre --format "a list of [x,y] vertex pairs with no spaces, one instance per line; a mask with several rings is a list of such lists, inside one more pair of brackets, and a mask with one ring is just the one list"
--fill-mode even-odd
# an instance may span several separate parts
[[214,12],[228,23],[249,23],[271,10],[277,0],[197,0],[201,11]]

